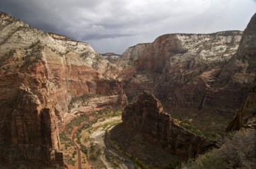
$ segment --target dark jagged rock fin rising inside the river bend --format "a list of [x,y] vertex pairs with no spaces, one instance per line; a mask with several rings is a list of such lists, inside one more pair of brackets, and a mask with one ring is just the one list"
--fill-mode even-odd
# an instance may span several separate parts
[[212,140],[181,127],[177,119],[164,113],[160,101],[146,92],[139,95],[136,103],[125,107],[122,120],[126,129],[139,131],[149,142],[161,142],[178,156],[193,157],[215,147]]

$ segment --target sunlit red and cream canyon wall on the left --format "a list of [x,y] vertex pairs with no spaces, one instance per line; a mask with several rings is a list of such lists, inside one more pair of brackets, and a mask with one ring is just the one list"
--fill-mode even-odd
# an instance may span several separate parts
[[89,44],[0,13],[1,162],[62,168],[59,127],[127,103],[118,71]]

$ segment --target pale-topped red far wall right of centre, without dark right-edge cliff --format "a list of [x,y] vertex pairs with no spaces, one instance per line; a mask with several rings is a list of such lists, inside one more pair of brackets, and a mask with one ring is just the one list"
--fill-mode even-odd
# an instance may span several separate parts
[[200,108],[205,91],[236,52],[241,35],[239,31],[166,34],[127,49],[116,62],[123,67],[119,79],[127,97],[147,90],[164,105]]

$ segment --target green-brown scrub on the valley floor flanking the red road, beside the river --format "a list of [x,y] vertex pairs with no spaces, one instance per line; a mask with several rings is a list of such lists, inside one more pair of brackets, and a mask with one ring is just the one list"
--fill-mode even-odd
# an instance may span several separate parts
[[[83,95],[84,98],[91,97],[90,95]],[[102,150],[100,149],[100,146],[96,144],[92,144],[92,146],[86,146],[84,142],[90,141],[88,137],[82,136],[82,131],[87,130],[88,132],[92,132],[92,124],[98,122],[98,119],[107,119],[108,117],[115,117],[121,115],[121,108],[116,109],[101,109],[99,111],[95,111],[93,113],[88,113],[84,115],[79,115],[79,117],[75,117],[72,119],[66,126],[65,129],[59,134],[59,137],[61,139],[61,151],[63,151],[64,155],[64,161],[72,166],[75,166],[77,162],[77,151],[75,147],[72,145],[71,137],[72,137],[72,131],[74,127],[78,127],[81,125],[84,121],[87,123],[84,123],[82,127],[77,129],[75,133],[76,143],[79,144],[79,148],[82,152],[82,163],[86,164],[86,158],[90,160],[98,160],[98,157],[101,156]],[[120,123],[121,121],[118,121]],[[100,127],[107,127],[107,125],[112,125],[114,123],[117,123],[117,121],[104,123],[100,125]],[[98,128],[98,126],[97,126]]]

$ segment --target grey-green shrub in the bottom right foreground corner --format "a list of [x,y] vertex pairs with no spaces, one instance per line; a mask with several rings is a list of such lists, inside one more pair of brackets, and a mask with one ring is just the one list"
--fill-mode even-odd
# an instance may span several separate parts
[[224,138],[224,144],[218,150],[212,150],[195,160],[183,163],[183,169],[215,168],[253,168],[255,162],[255,130],[243,130]]

